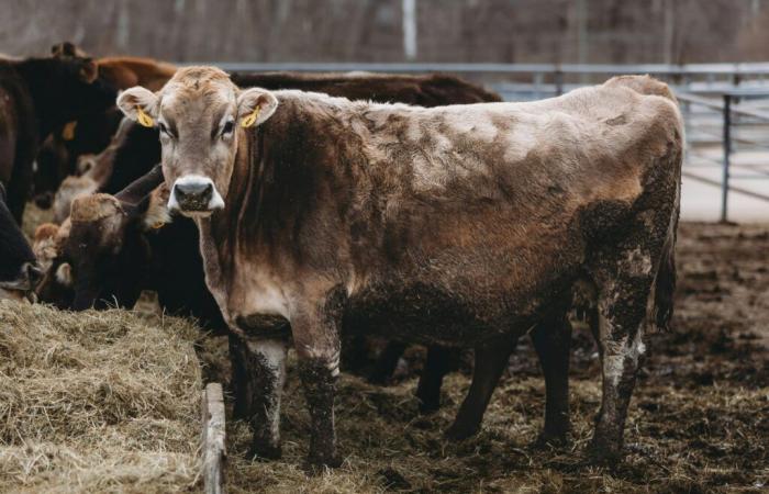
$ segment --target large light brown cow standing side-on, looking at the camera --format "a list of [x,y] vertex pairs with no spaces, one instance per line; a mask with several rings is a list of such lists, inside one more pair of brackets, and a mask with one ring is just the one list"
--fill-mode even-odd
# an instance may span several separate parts
[[603,362],[590,452],[620,457],[645,328],[670,313],[670,270],[658,272],[672,257],[682,123],[665,85],[423,109],[241,91],[188,67],[118,103],[157,122],[169,207],[194,218],[209,289],[258,356],[257,452],[279,452],[289,336],[309,462],[333,465],[342,324],[475,345],[499,367],[494,349],[566,311],[580,284]]

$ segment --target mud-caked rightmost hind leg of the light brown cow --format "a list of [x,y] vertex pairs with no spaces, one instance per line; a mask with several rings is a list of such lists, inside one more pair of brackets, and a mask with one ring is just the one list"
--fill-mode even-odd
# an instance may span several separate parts
[[643,263],[642,269],[623,262],[617,266],[615,279],[599,284],[598,339],[603,396],[588,452],[594,462],[602,464],[614,464],[621,458],[627,406],[645,351],[642,337],[653,282],[650,269],[643,269]]

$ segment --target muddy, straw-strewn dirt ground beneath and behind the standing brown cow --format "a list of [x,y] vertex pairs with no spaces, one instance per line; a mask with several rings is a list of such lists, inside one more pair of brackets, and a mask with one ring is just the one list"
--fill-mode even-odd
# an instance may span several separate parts
[[[571,444],[537,449],[544,381],[523,340],[481,434],[459,444],[443,430],[469,385],[450,375],[444,406],[420,416],[413,392],[422,351],[388,388],[343,374],[337,400],[342,468],[301,470],[309,417],[293,366],[285,393],[283,458],[245,458],[246,424],[229,425],[231,492],[766,492],[769,489],[769,225],[682,224],[670,333],[648,335],[647,361],[626,426],[625,461],[590,467],[584,447],[600,403],[592,337],[577,328],[571,358]],[[221,341],[207,345],[211,371]]]

